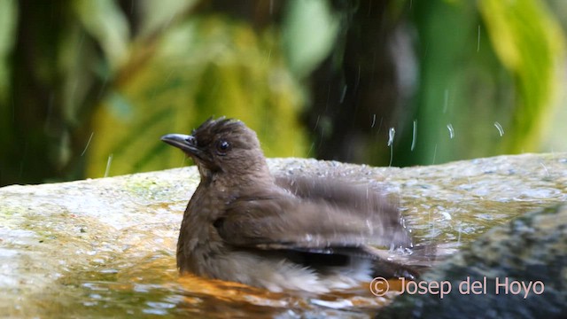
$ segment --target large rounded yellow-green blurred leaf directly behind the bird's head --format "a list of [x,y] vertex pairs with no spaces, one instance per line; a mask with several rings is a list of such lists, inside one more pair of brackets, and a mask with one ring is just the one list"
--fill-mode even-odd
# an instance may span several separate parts
[[187,19],[150,43],[132,48],[93,127],[89,176],[183,165],[184,155],[163,144],[167,133],[189,133],[210,116],[234,117],[258,132],[268,156],[302,156],[297,121],[301,99],[283,66],[277,37],[218,17]]

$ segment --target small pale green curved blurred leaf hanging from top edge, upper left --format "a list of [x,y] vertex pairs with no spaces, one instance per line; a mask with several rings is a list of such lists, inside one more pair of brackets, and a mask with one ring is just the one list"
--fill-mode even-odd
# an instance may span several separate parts
[[128,20],[113,0],[76,0],[74,10],[84,27],[102,46],[111,70],[116,70],[127,58]]

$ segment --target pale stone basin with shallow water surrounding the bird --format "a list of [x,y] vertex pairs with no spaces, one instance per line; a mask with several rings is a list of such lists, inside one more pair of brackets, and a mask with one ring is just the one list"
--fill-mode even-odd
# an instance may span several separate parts
[[[415,244],[454,253],[495,225],[567,200],[567,161],[550,155],[439,167],[274,159],[282,174],[355,179],[400,205]],[[0,313],[12,317],[369,317],[395,292],[363,284],[316,296],[180,277],[175,244],[196,169],[0,190]],[[394,283],[391,284],[395,285]]]

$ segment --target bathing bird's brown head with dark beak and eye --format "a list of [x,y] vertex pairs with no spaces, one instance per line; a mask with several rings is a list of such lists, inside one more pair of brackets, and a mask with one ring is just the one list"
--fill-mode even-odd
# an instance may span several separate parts
[[210,118],[189,136],[167,134],[161,140],[190,156],[201,178],[214,175],[242,178],[268,173],[258,137],[242,121]]

